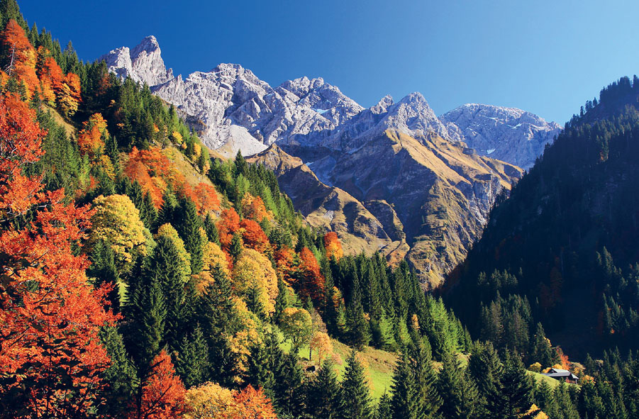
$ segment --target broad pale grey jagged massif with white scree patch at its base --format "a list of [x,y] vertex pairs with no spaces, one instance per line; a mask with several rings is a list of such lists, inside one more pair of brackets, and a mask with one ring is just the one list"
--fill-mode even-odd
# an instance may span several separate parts
[[241,149],[252,155],[278,140],[330,130],[362,110],[323,79],[304,77],[273,89],[230,64],[177,77],[152,91],[201,121],[204,143],[227,154]]

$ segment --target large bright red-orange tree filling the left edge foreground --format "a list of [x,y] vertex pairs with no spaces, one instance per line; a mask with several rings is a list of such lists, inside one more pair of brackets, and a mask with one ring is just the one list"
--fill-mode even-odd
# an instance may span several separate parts
[[[0,99],[0,410],[66,418],[97,404],[109,365],[99,328],[116,317],[104,310],[109,289],[89,284],[87,257],[72,249],[87,239],[91,210],[20,174],[43,154],[43,135],[26,104]],[[27,208],[32,223],[16,227]]]

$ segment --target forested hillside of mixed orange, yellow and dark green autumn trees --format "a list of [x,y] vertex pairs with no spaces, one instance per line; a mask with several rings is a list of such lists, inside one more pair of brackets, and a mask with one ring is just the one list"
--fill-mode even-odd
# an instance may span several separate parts
[[[344,255],[272,172],[211,159],[148,86],[80,61],[13,0],[0,27],[0,417],[639,417],[636,354],[576,369],[536,323],[525,346],[473,340],[406,262]],[[504,292],[516,275],[482,276],[491,301],[546,320]],[[379,398],[371,348],[394,358]]]

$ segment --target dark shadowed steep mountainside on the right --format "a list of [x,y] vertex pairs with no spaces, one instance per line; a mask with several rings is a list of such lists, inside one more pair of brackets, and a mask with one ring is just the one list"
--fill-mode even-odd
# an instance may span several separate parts
[[504,303],[501,318],[484,318],[482,304],[518,295],[530,303],[528,333],[541,320],[572,354],[639,347],[638,97],[628,78],[601,91],[492,211],[448,284],[455,312],[477,333],[489,337],[511,315]]

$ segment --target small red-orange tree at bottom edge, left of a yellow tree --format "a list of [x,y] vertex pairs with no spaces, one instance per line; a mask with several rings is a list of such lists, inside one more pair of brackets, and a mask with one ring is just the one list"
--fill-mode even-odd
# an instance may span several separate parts
[[152,365],[152,371],[142,385],[142,396],[133,418],[179,418],[186,408],[187,391],[182,380],[175,375],[171,357],[162,350],[153,359]]

